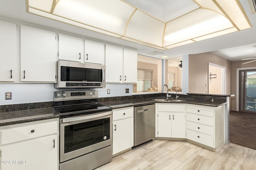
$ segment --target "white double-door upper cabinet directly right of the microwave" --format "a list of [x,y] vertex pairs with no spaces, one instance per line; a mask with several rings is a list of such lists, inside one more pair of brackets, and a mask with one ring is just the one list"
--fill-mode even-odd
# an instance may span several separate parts
[[137,82],[137,51],[106,44],[106,82]]

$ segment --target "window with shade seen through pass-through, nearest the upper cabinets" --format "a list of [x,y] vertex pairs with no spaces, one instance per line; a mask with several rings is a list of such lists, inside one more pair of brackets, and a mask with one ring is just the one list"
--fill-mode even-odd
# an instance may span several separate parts
[[147,92],[152,87],[153,70],[139,69],[137,80],[137,92]]

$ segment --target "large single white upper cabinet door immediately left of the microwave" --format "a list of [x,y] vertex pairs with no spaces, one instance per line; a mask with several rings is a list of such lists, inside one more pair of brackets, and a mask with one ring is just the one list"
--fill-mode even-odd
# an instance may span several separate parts
[[55,82],[57,41],[54,32],[20,28],[20,81]]

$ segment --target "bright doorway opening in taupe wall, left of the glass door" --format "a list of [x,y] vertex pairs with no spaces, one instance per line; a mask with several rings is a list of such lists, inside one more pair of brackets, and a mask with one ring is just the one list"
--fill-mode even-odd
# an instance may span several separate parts
[[[208,94],[226,94],[226,67],[209,63]],[[207,85],[206,85],[207,86]]]

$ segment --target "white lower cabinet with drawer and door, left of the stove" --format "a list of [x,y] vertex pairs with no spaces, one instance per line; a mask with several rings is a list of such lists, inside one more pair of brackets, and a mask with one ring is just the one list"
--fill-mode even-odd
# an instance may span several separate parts
[[1,170],[58,170],[58,119],[1,127]]

